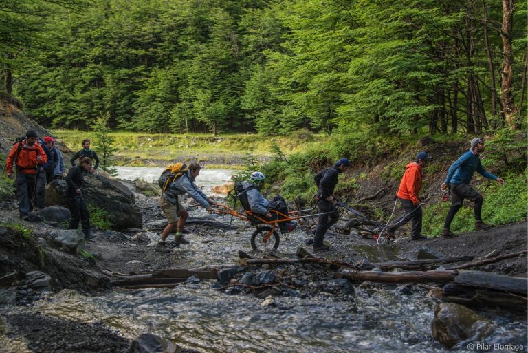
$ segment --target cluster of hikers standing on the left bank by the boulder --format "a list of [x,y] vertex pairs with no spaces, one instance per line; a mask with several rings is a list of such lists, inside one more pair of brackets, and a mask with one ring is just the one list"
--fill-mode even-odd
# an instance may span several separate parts
[[[83,141],[83,150],[78,151],[70,160],[72,168],[66,174],[63,155],[55,146],[52,136],[39,138],[36,131],[28,131],[24,138],[17,139],[5,160],[6,172],[13,178],[16,172],[16,187],[21,220],[38,221],[40,217],[34,212],[45,208],[45,188],[54,179],[65,179],[65,201],[72,213],[69,229],[76,229],[82,223],[83,233],[87,239],[94,236],[90,233],[88,208],[83,199],[84,172],[94,173],[98,165],[97,154],[89,149],[89,140]],[[96,160],[92,167],[91,159]],[[79,165],[76,161],[79,160]]]

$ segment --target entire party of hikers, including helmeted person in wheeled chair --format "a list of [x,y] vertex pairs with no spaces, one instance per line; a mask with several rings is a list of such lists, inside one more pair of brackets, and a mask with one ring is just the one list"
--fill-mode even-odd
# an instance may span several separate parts
[[[504,184],[502,178],[487,172],[481,164],[479,157],[484,151],[484,139],[474,138],[470,144],[470,150],[465,152],[456,160],[448,170],[445,182],[441,189],[449,189],[451,194],[451,208],[445,219],[442,237],[455,237],[450,230],[451,222],[463,204],[463,200],[474,202],[475,228],[476,230],[488,229],[491,226],[483,222],[481,210],[483,197],[470,186],[470,182],[477,171],[483,177],[496,180]],[[72,212],[69,223],[70,229],[81,228],[85,237],[93,237],[90,233],[89,211],[83,198],[82,186],[84,175],[94,173],[99,164],[97,154],[90,149],[90,140],[83,140],[83,149],[75,153],[70,160],[72,168],[65,173],[63,156],[55,146],[55,140],[51,136],[39,139],[35,131],[28,131],[25,138],[14,143],[6,160],[7,173],[13,178],[13,170],[17,172],[16,186],[18,195],[19,212],[22,220],[32,220],[32,211],[38,211],[45,207],[45,186],[56,178],[65,178],[66,191],[65,201]],[[422,216],[421,206],[423,200],[419,197],[422,185],[423,168],[429,160],[425,151],[419,152],[414,161],[407,164],[403,178],[399,184],[396,197],[401,203],[404,214],[395,222],[386,226],[388,239],[395,237],[395,231],[411,221],[410,239],[423,240],[426,236],[421,234]],[[79,161],[76,165],[76,161]],[[95,160],[95,166],[92,164]],[[162,193],[159,198],[159,208],[168,220],[167,226],[162,231],[159,246],[166,245],[168,235],[174,230],[175,244],[189,244],[183,236],[183,228],[186,224],[188,211],[179,201],[179,197],[188,194],[196,200],[206,211],[212,212],[214,203],[195,184],[195,178],[200,173],[201,166],[197,163],[175,164],[175,169],[166,170],[159,179]],[[314,251],[329,250],[330,246],[325,244],[325,234],[340,217],[336,200],[333,196],[338,175],[344,173],[351,167],[347,158],[340,158],[332,167],[320,171],[314,176],[318,187],[315,200],[318,208],[318,224],[314,235]],[[272,200],[267,200],[261,193],[265,181],[265,175],[260,171],[251,173],[249,180],[241,183],[240,193],[247,197],[248,210],[252,215],[257,215],[263,220],[285,220],[278,222],[278,228],[282,233],[293,231],[297,223],[287,217],[288,208],[284,198],[277,195]]]

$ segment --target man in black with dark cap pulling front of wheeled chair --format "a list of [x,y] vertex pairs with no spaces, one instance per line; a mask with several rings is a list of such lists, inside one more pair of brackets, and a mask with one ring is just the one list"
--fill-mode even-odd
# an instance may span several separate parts
[[316,235],[314,236],[314,251],[324,251],[330,248],[324,244],[323,240],[328,228],[339,220],[339,211],[333,204],[333,189],[338,184],[339,173],[347,171],[349,167],[350,161],[347,158],[341,158],[333,167],[325,169],[314,176],[318,186],[316,202],[319,213],[325,213],[319,216]]

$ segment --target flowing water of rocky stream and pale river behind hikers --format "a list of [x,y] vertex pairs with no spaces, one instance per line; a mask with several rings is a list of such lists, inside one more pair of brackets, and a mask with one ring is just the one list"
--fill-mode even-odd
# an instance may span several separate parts
[[[161,170],[118,169],[128,180],[137,176],[146,181],[155,180]],[[203,169],[197,183],[205,187],[223,184],[230,173]],[[198,217],[207,214],[203,210],[193,213]],[[230,222],[225,216],[217,220]],[[174,249],[175,267],[234,264],[237,250],[251,253],[252,228],[239,220],[234,224],[239,231],[186,235],[192,246]],[[159,235],[152,232],[151,236]],[[295,253],[305,237],[301,231],[289,233],[281,237],[279,250]],[[398,255],[395,247],[353,245],[347,239],[336,239],[336,246],[350,248],[370,261],[396,259]],[[225,290],[210,288],[212,283],[200,281],[170,289],[118,288],[94,296],[63,290],[25,310],[83,323],[100,321],[129,339],[153,333],[203,352],[448,352],[431,335],[434,309],[441,301],[425,297],[423,288],[412,287],[409,291],[397,286],[355,286],[350,295],[336,295],[331,290],[314,296],[294,292],[274,297],[276,306],[261,306],[262,298],[243,293],[229,295]],[[467,344],[478,341],[524,344],[526,351],[527,323],[523,317],[483,310],[479,313],[494,321],[494,334],[485,340],[461,342],[449,352],[468,352]]]

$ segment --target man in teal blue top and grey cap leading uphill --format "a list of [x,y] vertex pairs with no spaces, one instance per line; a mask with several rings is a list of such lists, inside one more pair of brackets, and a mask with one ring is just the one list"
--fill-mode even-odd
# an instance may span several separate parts
[[449,167],[448,176],[445,178],[445,182],[441,186],[442,189],[445,189],[449,185],[452,193],[451,208],[448,212],[448,216],[445,218],[445,224],[443,224],[442,237],[451,238],[456,236],[450,230],[450,226],[454,215],[456,215],[462,207],[464,199],[475,202],[475,229],[479,231],[481,229],[492,228],[491,225],[484,223],[481,217],[484,197],[470,186],[470,182],[475,171],[478,171],[478,173],[484,178],[498,181],[501,185],[504,184],[504,180],[484,169],[481,163],[481,158],[479,157],[480,153],[483,151],[484,139],[474,138],[471,140],[470,150],[464,153],[451,165],[451,167]]

